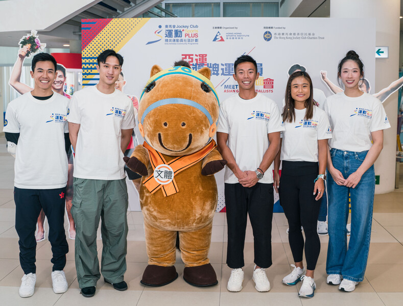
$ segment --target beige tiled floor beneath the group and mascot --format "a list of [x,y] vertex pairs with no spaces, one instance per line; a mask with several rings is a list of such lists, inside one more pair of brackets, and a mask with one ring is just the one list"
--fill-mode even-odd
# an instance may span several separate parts
[[[34,152],[35,153],[35,152]],[[210,288],[196,288],[183,281],[183,264],[177,254],[176,268],[179,273],[175,282],[159,288],[145,287],[139,283],[147,265],[144,241],[143,217],[140,212],[128,212],[129,234],[127,272],[125,280],[129,290],[118,292],[101,279],[97,293],[84,298],[80,293],[74,264],[74,241],[68,240],[65,273],[69,289],[64,294],[52,290],[50,273],[52,264],[51,246],[48,240],[37,245],[37,283],[35,294],[20,298],[18,287],[22,270],[18,261],[18,238],[14,229],[13,158],[5,148],[5,139],[0,137],[0,305],[403,305],[403,174],[402,186],[396,191],[375,195],[373,226],[369,260],[365,280],[353,293],[341,292],[337,286],[326,284],[325,263],[327,236],[321,237],[321,253],[315,273],[317,290],[313,299],[299,298],[300,285],[289,287],[281,283],[293,263],[286,234],[287,220],[283,214],[274,214],[272,246],[273,265],[267,269],[271,290],[258,293],[251,281],[253,270],[253,235],[247,228],[245,244],[245,281],[241,292],[226,289],[230,269],[225,264],[227,227],[225,214],[214,218],[209,258],[217,272],[219,284]],[[400,171],[400,173],[403,173]],[[67,222],[65,222],[67,230]],[[99,256],[101,241],[98,240]]]

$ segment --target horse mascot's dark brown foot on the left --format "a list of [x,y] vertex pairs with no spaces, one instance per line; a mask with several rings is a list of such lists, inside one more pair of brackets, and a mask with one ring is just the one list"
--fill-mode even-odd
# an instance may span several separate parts
[[174,266],[148,265],[144,270],[140,283],[146,286],[159,287],[172,283],[176,278],[178,278],[178,273]]

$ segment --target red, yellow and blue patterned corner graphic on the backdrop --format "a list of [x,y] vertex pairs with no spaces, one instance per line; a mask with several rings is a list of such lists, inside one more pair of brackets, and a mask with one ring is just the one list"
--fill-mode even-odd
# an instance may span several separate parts
[[149,19],[115,18],[82,20],[83,87],[96,85],[99,81],[97,70],[98,55],[106,49],[113,49],[119,52]]

